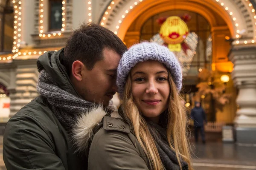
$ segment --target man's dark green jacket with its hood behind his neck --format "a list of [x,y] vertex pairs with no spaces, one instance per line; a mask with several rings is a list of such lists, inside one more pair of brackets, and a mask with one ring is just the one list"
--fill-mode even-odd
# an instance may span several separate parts
[[[61,54],[63,49],[45,53],[38,59],[38,69],[46,69],[61,88],[76,94],[60,66]],[[7,123],[3,136],[3,160],[7,170],[86,169],[72,146],[69,134],[51,111],[47,100],[38,96]]]

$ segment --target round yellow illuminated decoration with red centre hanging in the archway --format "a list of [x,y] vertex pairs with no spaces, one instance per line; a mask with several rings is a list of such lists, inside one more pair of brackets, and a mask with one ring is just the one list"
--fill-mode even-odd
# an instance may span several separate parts
[[170,51],[181,51],[181,43],[189,34],[189,28],[180,17],[168,17],[160,28],[160,36]]

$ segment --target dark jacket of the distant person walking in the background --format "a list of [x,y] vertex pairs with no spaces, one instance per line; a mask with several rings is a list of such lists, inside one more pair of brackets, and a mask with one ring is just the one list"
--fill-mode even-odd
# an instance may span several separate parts
[[190,117],[194,120],[195,127],[202,127],[204,122],[207,122],[204,109],[201,106],[192,108]]

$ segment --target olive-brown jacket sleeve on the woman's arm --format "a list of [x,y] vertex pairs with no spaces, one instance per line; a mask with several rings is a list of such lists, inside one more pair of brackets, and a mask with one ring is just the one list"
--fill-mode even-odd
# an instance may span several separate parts
[[148,167],[125,133],[101,129],[90,146],[88,170],[148,170]]

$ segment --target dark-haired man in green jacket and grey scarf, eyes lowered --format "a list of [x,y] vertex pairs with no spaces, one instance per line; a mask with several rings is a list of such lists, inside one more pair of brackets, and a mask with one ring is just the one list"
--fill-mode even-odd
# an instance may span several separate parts
[[[127,50],[108,29],[83,24],[60,51],[37,61],[38,93],[6,125],[3,159],[8,170],[84,170],[86,155],[76,153],[73,125],[116,93],[116,68]],[[83,159],[81,159],[83,158]]]

